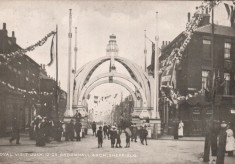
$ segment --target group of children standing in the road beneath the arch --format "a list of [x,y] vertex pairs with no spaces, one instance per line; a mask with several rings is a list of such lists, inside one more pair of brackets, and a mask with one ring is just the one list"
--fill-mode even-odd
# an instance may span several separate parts
[[[92,131],[93,131],[93,136],[96,136],[98,139],[98,148],[102,147],[103,144],[103,139],[106,137],[108,140],[111,141],[111,148],[122,148],[121,145],[121,134],[123,133],[122,128],[118,128],[116,124],[113,126],[107,125],[104,123],[103,127],[99,126],[98,130],[96,131],[96,123],[92,123]],[[140,128],[137,128],[136,124],[132,124],[131,126],[125,127],[124,133],[126,137],[126,146],[125,148],[130,147],[130,141],[137,142],[137,136],[140,138],[140,143],[144,145],[148,145],[147,143],[147,136],[148,136],[148,131],[147,131],[147,125],[140,125]]]

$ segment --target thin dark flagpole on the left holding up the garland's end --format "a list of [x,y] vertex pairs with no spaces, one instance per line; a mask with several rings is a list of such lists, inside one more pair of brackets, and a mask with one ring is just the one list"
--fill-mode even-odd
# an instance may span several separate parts
[[56,118],[59,119],[58,111],[58,25],[56,25],[56,90],[55,90]]

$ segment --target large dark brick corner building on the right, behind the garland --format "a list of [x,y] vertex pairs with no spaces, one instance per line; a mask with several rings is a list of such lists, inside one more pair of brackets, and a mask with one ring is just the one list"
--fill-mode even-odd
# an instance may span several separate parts
[[[188,17],[190,19],[190,15]],[[234,122],[235,112],[235,29],[215,25],[214,48],[212,56],[212,25],[210,15],[205,13],[202,22],[194,31],[190,43],[183,53],[183,59],[176,67],[175,90],[182,96],[202,94],[189,98],[178,106],[170,106],[164,96],[161,97],[161,118],[170,132],[172,120],[178,115],[185,123],[187,136],[201,136],[206,121],[214,112],[214,119]],[[185,39],[179,34],[162,49],[160,61],[168,57],[174,48],[179,47]],[[215,78],[212,78],[214,75]],[[215,106],[207,97],[208,84],[214,79]],[[176,113],[176,108],[179,114]]]

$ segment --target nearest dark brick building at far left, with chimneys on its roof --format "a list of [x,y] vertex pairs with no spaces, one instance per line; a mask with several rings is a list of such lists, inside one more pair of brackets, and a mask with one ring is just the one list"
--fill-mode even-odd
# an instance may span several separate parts
[[[16,56],[8,64],[4,55],[21,47],[16,43],[15,33],[7,35],[6,24],[0,30],[0,133],[11,130],[13,117],[17,117],[21,128],[29,125],[32,111],[39,102],[40,65],[27,55]],[[30,93],[26,93],[30,91]]]

